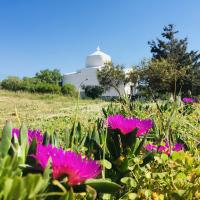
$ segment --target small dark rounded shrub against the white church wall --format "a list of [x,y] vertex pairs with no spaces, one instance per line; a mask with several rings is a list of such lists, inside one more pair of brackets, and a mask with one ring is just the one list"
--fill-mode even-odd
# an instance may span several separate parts
[[103,87],[98,85],[87,85],[83,88],[85,89],[85,95],[92,99],[100,97],[104,92]]

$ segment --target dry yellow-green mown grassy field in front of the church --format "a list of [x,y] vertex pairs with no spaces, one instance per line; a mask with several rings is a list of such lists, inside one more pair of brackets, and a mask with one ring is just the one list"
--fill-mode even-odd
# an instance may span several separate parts
[[[6,120],[15,127],[25,122],[31,128],[43,131],[64,129],[72,125],[75,117],[76,98],[50,94],[14,93],[0,90],[0,128]],[[80,100],[78,120],[83,125],[94,123],[107,102],[101,100]],[[18,115],[18,117],[17,117]]]

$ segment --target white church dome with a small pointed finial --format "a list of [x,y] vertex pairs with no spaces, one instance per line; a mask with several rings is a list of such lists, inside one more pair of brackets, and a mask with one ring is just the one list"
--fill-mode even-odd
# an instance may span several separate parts
[[105,63],[111,62],[111,57],[100,50],[97,47],[96,51],[86,58],[86,67],[101,67]]

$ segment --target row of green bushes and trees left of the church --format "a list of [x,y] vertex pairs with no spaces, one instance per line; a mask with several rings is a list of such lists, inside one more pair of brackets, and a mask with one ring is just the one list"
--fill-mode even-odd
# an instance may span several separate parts
[[76,96],[77,91],[74,85],[65,84],[62,86],[62,75],[58,69],[42,70],[32,78],[10,76],[1,81],[1,88],[10,91],[25,91],[31,93],[52,93]]

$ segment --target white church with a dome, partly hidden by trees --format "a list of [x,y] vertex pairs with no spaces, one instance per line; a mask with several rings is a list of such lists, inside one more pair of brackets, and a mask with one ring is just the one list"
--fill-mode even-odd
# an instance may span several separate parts
[[[101,70],[104,67],[105,63],[111,62],[112,59],[109,55],[102,52],[99,47],[96,51],[86,57],[85,68],[82,68],[76,72],[66,73],[63,75],[63,85],[65,83],[73,84],[77,90],[80,90],[81,95],[84,96],[84,90],[82,86],[85,85],[99,85],[97,79],[97,70]],[[125,69],[127,74],[130,69]],[[126,85],[121,84],[118,87],[121,94],[134,95],[135,87],[128,83]],[[102,97],[110,98],[117,97],[118,93],[115,89],[111,88],[110,90],[104,92]]]

